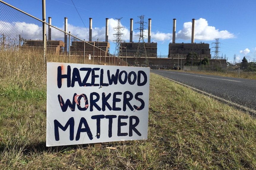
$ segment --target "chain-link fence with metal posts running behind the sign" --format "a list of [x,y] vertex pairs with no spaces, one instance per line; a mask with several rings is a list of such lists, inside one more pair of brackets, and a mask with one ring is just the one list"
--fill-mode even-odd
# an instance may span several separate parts
[[45,54],[47,61],[60,62],[59,59],[64,58],[64,62],[127,66],[127,62],[109,53],[108,42],[81,40],[70,32],[50,25],[50,22],[46,23],[44,49],[42,20],[1,0],[0,11],[1,50],[33,51]]

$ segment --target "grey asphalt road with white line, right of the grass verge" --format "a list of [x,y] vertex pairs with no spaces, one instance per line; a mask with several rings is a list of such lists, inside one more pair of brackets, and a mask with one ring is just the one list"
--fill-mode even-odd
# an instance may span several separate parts
[[150,70],[150,72],[210,93],[256,112],[256,80],[203,75],[183,71]]

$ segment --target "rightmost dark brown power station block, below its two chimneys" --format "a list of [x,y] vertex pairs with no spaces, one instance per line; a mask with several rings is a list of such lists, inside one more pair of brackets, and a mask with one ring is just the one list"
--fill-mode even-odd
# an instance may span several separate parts
[[[208,43],[169,43],[168,58],[186,58],[189,52],[195,52],[198,57],[211,59],[211,49]],[[202,54],[202,55],[201,55]]]

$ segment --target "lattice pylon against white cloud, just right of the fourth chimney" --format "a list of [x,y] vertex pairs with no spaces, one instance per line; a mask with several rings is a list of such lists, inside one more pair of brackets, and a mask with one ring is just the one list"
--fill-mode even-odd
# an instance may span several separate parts
[[115,50],[115,53],[114,53],[114,56],[117,56],[117,57],[120,57],[123,53],[122,53],[122,48],[120,48],[120,44],[122,41],[122,37],[124,36],[124,33],[121,33],[121,31],[124,30],[124,27],[121,26],[121,22],[120,20],[122,19],[123,17],[121,18],[116,18],[118,23],[117,23],[117,27],[114,27],[114,30],[116,31],[114,35],[114,37],[116,37],[116,39],[114,40],[115,44],[116,44],[116,50]]

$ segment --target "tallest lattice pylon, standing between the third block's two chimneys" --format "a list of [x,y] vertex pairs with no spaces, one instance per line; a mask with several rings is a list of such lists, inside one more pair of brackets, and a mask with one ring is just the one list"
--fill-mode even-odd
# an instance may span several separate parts
[[[145,42],[144,42],[144,15],[138,16],[140,18],[140,21],[136,22],[140,24],[140,28],[137,28],[135,30],[140,30],[140,34],[135,35],[135,36],[140,36],[139,38],[139,43],[138,43],[138,48],[135,56],[135,63],[134,64],[145,64],[146,67],[148,67],[148,58],[147,58],[147,53],[146,53],[146,47],[145,47]],[[145,58],[145,60],[143,59]],[[144,60],[144,61],[143,61]]]

